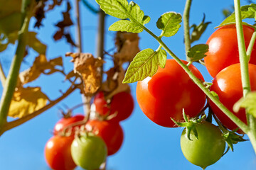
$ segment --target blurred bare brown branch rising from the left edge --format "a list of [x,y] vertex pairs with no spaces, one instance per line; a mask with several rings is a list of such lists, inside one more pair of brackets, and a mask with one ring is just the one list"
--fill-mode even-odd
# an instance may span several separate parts
[[16,128],[18,125],[26,123],[28,120],[31,120],[32,118],[35,118],[37,115],[40,115],[44,111],[47,111],[49,108],[52,108],[53,106],[55,106],[55,104],[59,103],[64,98],[69,96],[73,91],[75,91],[75,89],[77,89],[77,86],[70,86],[70,88],[62,96],[55,99],[54,101],[51,101],[50,103],[48,103],[48,105],[44,106],[43,108],[39,109],[38,111],[35,111],[29,115],[26,115],[23,118],[19,118],[17,120],[6,123],[4,128],[1,129],[0,134],[3,134],[4,132],[6,132],[7,130],[10,130],[12,128]]

